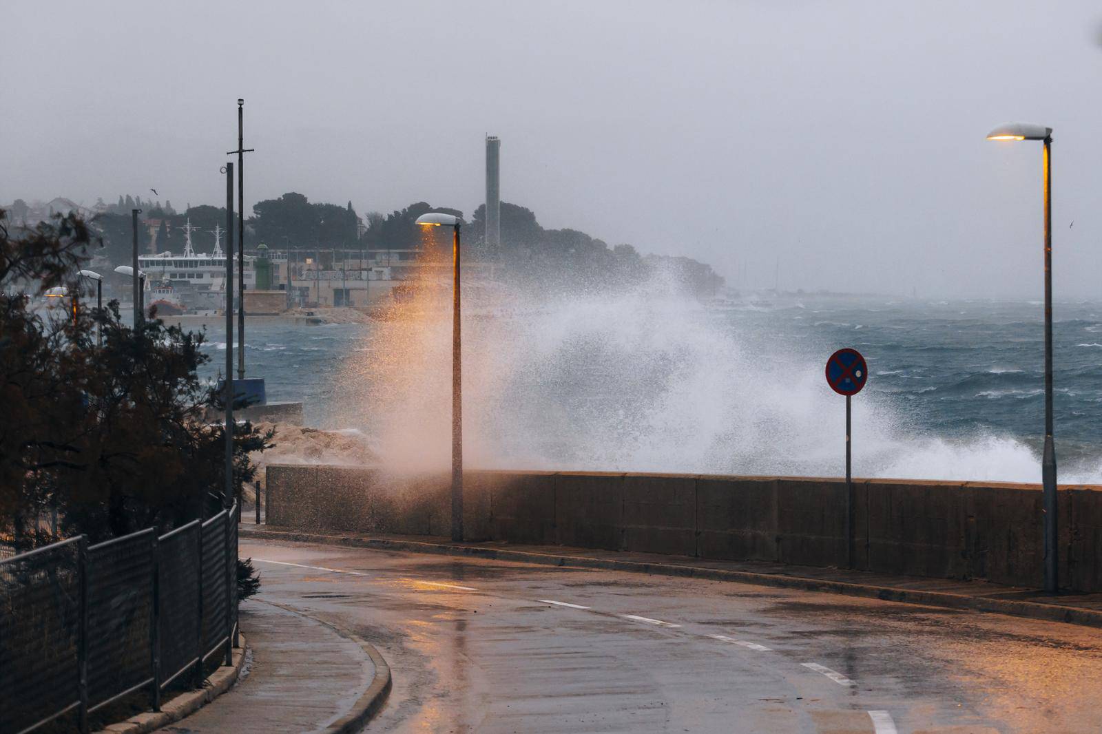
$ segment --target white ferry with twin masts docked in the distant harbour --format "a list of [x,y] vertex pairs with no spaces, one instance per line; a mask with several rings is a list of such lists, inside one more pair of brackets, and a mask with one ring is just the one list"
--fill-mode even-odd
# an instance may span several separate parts
[[[222,249],[222,233],[226,230],[215,225],[210,230],[214,234],[214,251],[201,253],[192,247],[192,233],[195,231],[192,220],[188,219],[182,229],[185,239],[184,251],[181,255],[173,255],[169,250],[156,255],[139,255],[138,267],[145,273],[149,282],[168,282],[179,307],[184,307],[186,301],[192,301],[194,305],[209,306],[215,296],[219,305],[224,305],[222,302],[225,301],[226,292],[226,253]],[[246,290],[256,288],[257,273],[252,268],[253,260],[251,255],[245,256]],[[236,265],[237,258],[234,261]],[[236,272],[234,278],[236,285]]]

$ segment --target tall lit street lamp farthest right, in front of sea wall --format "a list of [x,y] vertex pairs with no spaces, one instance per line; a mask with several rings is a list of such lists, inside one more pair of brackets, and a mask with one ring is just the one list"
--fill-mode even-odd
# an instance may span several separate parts
[[987,140],[1040,140],[1041,180],[1045,196],[1045,452],[1041,486],[1045,518],[1045,591],[1059,591],[1057,564],[1056,446],[1052,443],[1052,128],[1028,122],[1008,122],[987,133]]

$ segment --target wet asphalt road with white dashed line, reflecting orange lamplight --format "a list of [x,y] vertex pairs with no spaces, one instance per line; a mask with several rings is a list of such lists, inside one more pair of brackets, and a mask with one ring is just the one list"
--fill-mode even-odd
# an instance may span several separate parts
[[382,652],[393,690],[369,732],[1102,732],[1088,627],[329,546],[241,554],[262,598]]

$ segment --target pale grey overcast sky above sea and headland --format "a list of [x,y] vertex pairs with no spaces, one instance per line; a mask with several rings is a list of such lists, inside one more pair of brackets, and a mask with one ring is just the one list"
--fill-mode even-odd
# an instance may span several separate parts
[[[287,191],[469,215],[485,133],[545,227],[731,284],[1102,296],[1102,7],[1060,2],[52,2],[0,8],[0,202]],[[1071,227],[1071,223],[1074,226]]]

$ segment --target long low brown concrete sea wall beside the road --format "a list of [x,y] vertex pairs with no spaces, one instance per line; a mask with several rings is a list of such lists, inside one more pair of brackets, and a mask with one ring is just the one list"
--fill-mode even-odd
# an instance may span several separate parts
[[[269,465],[272,525],[447,536],[451,477]],[[468,540],[1041,584],[1039,485],[469,471]],[[1060,575],[1102,591],[1102,488],[1059,490]]]

